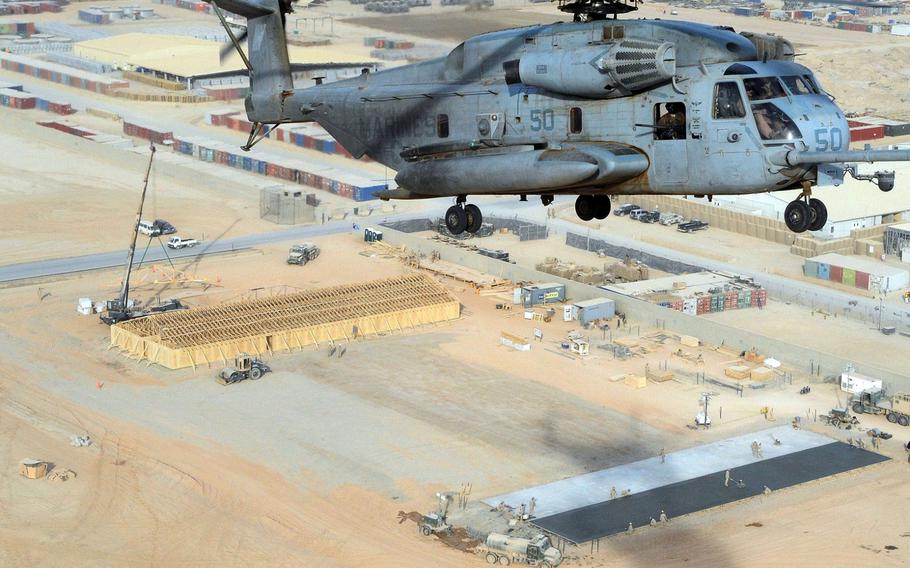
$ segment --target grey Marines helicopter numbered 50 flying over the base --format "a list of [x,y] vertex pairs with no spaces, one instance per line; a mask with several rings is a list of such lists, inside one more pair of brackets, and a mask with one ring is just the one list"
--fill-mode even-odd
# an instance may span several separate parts
[[[894,187],[855,162],[910,151],[848,150],[844,113],[780,37],[665,20],[621,20],[637,0],[558,0],[559,22],[471,37],[447,56],[295,89],[285,45],[291,0],[211,0],[247,18],[249,149],[266,125],[317,122],[354,156],[397,171],[381,199],[454,198],[449,231],[480,229],[471,195],[576,195],[585,221],[610,196],[802,189],[785,221],[827,220],[814,185],[846,173]],[[230,46],[228,46],[228,49]]]

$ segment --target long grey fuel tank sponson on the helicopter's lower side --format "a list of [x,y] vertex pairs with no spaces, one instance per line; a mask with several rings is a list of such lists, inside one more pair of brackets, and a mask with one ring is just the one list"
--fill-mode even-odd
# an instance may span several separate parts
[[632,179],[648,169],[648,158],[631,148],[578,144],[561,149],[427,159],[406,164],[395,176],[405,198],[421,195],[524,193]]

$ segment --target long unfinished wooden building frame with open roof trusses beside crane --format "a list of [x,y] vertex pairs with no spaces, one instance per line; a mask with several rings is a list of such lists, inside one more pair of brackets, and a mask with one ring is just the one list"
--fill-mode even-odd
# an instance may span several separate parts
[[168,369],[210,366],[238,353],[309,345],[457,319],[458,300],[420,273],[155,314],[111,326],[111,346]]

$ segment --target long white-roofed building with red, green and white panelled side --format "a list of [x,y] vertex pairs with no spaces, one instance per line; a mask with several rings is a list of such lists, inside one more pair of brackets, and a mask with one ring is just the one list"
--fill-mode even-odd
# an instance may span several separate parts
[[863,257],[823,254],[806,259],[803,272],[811,278],[851,288],[887,293],[910,286],[910,272]]

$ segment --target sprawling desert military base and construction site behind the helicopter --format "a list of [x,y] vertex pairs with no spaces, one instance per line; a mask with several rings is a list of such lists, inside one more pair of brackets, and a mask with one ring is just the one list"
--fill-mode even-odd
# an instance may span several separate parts
[[[787,192],[483,197],[453,234],[315,124],[241,150],[209,3],[45,4],[0,3],[0,565],[910,563],[899,166],[799,235]],[[562,16],[371,4],[288,16],[297,83]],[[767,8],[641,13],[790,37],[906,144],[905,8]]]

